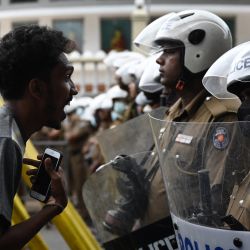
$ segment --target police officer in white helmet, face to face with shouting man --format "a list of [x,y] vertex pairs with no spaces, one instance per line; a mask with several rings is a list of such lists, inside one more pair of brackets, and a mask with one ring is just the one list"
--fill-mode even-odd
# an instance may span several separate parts
[[[139,35],[139,38],[144,40],[136,39],[135,42],[162,52],[156,60],[160,65],[161,83],[177,91],[180,96],[168,110],[166,120],[180,122],[235,120],[239,101],[224,101],[209,96],[201,81],[211,64],[232,46],[228,26],[218,16],[201,10],[171,13],[161,20],[163,20],[162,23],[156,20],[158,27],[154,41],[145,39],[144,34]],[[150,29],[154,25],[150,24],[148,27],[143,32],[149,32],[152,36]],[[201,131],[196,128],[190,132],[197,140],[202,136]],[[223,133],[226,133],[226,130]],[[184,155],[192,153],[188,145],[177,143],[174,135],[171,139],[172,149],[170,150],[179,148]],[[220,150],[226,150],[227,147],[229,145],[225,143]],[[218,164],[221,164],[223,173],[225,159],[220,158],[218,151],[214,150],[214,157],[218,157]],[[211,177],[212,185],[221,184],[221,176],[217,176],[217,173],[212,171]],[[165,188],[158,169],[151,183],[149,204],[142,223],[152,223],[167,215],[169,212]]]

